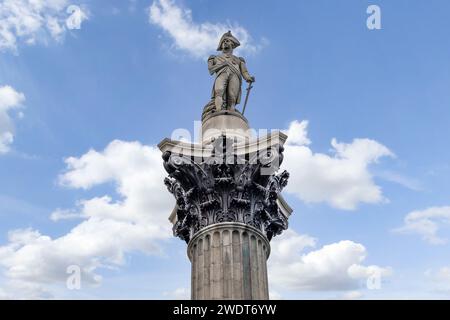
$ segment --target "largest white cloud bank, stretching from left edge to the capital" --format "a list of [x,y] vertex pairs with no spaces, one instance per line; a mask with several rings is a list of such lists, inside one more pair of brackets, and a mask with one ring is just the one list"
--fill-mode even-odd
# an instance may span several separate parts
[[101,152],[90,150],[66,159],[66,164],[61,184],[90,189],[113,183],[117,199],[112,195],[83,199],[75,208],[54,212],[53,220],[82,219],[60,237],[33,229],[11,231],[8,243],[0,247],[0,266],[7,279],[46,289],[49,284],[64,284],[67,267],[77,265],[82,285],[95,285],[101,280],[99,268],[123,265],[129,252],[161,253],[162,241],[172,237],[167,217],[174,200],[162,182],[165,174],[156,147],[115,140]]

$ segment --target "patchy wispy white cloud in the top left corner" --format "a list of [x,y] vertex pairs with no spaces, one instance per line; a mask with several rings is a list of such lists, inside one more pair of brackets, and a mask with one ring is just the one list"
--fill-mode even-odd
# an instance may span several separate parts
[[68,0],[0,0],[0,51],[16,52],[19,42],[59,41],[87,17],[86,9]]

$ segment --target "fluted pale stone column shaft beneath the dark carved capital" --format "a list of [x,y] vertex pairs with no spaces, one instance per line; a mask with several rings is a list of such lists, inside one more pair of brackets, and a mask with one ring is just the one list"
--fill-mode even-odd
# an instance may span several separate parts
[[270,244],[258,229],[224,222],[199,231],[189,242],[193,300],[267,300]]

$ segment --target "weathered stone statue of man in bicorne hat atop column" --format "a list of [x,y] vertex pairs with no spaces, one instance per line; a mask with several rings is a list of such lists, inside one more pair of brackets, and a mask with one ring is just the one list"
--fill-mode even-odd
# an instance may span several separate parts
[[255,77],[247,70],[244,58],[233,55],[233,50],[238,46],[239,40],[228,31],[217,47],[217,51],[222,51],[222,54],[208,58],[209,73],[216,74],[216,79],[211,101],[205,106],[203,116],[220,110],[235,111],[235,106],[241,101],[242,78],[250,84],[255,82]]

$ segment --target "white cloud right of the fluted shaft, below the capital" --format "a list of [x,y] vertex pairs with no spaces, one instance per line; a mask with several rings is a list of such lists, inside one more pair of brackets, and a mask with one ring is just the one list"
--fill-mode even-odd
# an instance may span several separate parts
[[389,276],[390,268],[364,266],[366,248],[344,240],[303,253],[315,245],[309,236],[288,230],[272,241],[269,280],[275,288],[290,290],[352,290],[361,287],[375,273]]

